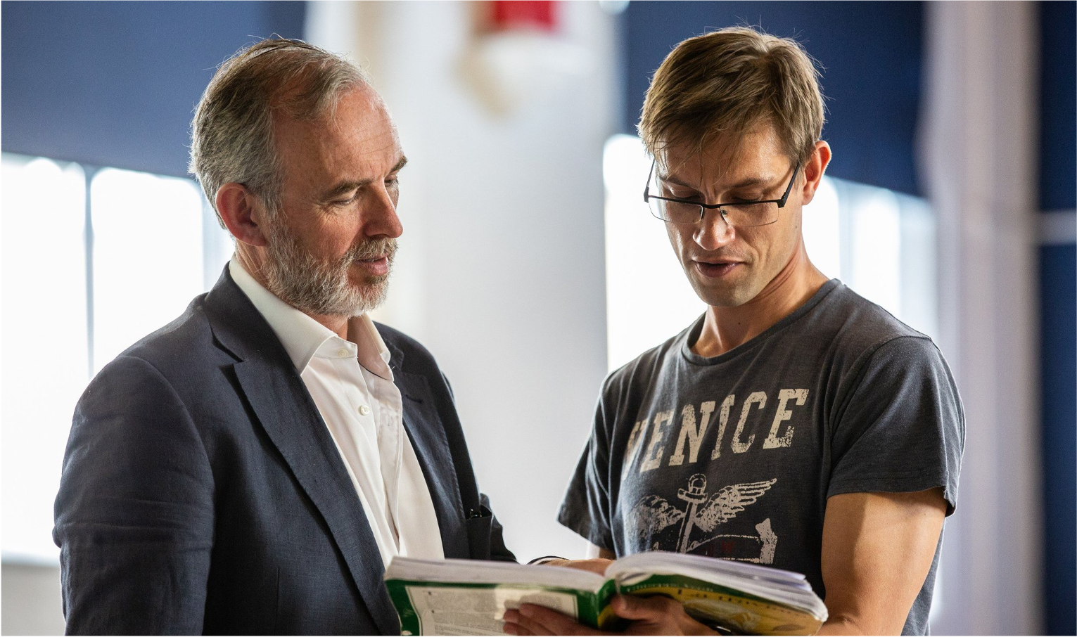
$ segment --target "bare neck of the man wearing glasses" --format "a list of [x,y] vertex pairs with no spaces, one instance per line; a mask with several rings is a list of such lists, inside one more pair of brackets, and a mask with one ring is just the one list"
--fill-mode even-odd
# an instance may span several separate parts
[[803,241],[763,291],[735,308],[708,307],[703,329],[691,346],[700,356],[718,356],[746,343],[805,305],[827,278],[808,260]]

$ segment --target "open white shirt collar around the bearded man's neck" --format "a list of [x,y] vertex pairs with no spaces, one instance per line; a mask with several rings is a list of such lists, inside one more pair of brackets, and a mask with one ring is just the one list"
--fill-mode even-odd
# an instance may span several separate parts
[[359,364],[370,372],[393,380],[389,348],[365,312],[348,321],[348,341],[345,341],[332,329],[266,289],[235,256],[228,261],[228,273],[269,324],[299,373],[316,355],[332,358],[356,356]]

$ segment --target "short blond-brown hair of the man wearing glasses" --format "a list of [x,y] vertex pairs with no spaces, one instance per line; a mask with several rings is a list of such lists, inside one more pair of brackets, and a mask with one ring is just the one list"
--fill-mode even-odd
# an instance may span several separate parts
[[760,123],[773,126],[801,164],[823,132],[819,71],[795,40],[747,27],[689,38],[666,57],[643,101],[640,136],[655,157],[670,145],[715,136],[736,144]]

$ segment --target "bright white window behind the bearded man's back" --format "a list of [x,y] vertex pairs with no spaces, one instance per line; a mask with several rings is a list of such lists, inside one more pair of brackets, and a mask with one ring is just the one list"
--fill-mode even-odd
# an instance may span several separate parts
[[79,396],[216,280],[230,242],[191,180],[4,153],[0,197],[2,557],[55,563]]

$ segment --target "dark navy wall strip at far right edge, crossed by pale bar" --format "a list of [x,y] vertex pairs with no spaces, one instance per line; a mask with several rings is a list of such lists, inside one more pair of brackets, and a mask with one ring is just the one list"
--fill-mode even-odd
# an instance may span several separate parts
[[[1077,214],[1077,2],[1040,3],[1044,214]],[[1071,212],[1064,212],[1064,211]],[[1077,244],[1039,249],[1047,632],[1077,635]]]

